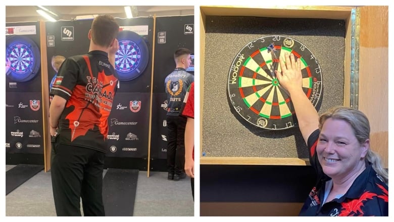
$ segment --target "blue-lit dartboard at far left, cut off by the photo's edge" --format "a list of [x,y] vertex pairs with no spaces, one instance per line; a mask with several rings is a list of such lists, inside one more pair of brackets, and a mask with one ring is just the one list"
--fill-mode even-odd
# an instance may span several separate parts
[[[6,39],[6,76],[18,82],[34,78],[40,68],[40,51],[36,43],[23,35]],[[8,69],[7,69],[8,68]]]

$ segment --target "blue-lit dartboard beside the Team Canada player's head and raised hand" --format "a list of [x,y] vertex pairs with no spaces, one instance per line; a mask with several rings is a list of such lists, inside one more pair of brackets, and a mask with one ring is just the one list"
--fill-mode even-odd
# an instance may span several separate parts
[[145,70],[149,60],[149,50],[146,42],[137,33],[121,31],[117,37],[119,50],[115,55],[115,69],[119,80],[135,79]]

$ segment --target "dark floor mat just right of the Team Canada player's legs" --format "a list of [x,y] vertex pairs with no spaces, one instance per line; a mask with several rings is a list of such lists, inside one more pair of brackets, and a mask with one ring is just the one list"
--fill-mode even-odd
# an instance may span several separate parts
[[132,216],[138,180],[137,169],[109,168],[103,179],[106,216]]

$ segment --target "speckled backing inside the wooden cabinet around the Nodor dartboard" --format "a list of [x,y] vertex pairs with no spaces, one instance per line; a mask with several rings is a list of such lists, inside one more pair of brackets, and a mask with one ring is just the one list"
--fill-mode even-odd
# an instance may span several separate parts
[[237,118],[228,102],[228,73],[247,43],[262,36],[289,36],[319,61],[324,91],[319,113],[342,105],[344,21],[241,16],[207,16],[206,21],[203,156],[308,158],[298,127],[268,131]]

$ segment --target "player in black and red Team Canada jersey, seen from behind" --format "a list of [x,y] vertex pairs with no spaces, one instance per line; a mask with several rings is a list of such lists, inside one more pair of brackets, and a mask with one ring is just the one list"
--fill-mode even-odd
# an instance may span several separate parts
[[94,18],[89,52],[62,64],[51,94],[51,176],[58,216],[105,216],[102,190],[108,116],[118,85],[115,54],[119,25]]

